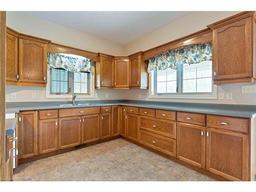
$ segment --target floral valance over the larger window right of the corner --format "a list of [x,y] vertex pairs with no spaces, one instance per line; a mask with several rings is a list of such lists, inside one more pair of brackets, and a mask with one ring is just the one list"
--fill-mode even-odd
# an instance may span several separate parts
[[212,60],[211,42],[173,49],[148,59],[147,71],[177,69],[181,63],[199,63]]

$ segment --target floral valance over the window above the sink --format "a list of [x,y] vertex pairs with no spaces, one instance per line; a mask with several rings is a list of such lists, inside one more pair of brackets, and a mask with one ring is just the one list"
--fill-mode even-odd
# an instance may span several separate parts
[[48,68],[62,68],[69,72],[91,72],[91,67],[94,66],[94,61],[89,58],[62,54],[62,53],[47,53]]

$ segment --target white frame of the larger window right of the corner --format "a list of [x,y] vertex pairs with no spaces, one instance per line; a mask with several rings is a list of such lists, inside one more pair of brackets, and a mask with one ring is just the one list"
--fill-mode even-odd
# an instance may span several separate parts
[[[159,99],[217,99],[217,85],[212,83],[212,92],[211,93],[170,93],[170,94],[161,94],[158,95],[154,93],[154,85],[156,80],[152,72],[149,73],[149,86],[148,86],[148,98],[159,98]],[[178,83],[178,76],[177,76]]]

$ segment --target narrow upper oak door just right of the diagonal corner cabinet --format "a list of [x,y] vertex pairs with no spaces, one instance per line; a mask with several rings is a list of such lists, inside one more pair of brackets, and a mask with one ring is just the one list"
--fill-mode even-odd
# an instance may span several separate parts
[[130,87],[140,87],[140,56],[130,61]]

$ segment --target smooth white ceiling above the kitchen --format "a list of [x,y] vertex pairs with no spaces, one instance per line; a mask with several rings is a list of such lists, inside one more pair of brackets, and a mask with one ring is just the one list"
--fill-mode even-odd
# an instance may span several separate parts
[[26,13],[126,45],[189,12],[26,11]]

